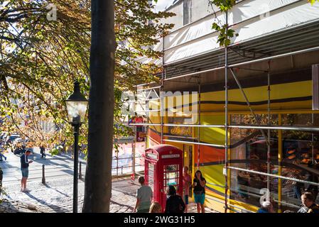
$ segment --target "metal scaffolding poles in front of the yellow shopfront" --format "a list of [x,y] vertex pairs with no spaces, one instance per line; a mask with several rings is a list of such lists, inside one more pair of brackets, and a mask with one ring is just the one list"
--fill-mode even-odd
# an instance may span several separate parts
[[[226,24],[228,24],[228,12],[226,11]],[[311,24],[310,24],[311,25]],[[228,28],[227,28],[228,29]],[[164,40],[164,39],[163,39]],[[317,43],[318,44],[318,43]],[[246,44],[245,44],[246,45]],[[306,183],[306,184],[313,184],[315,186],[319,186],[319,183],[317,182],[310,182],[310,181],[306,181],[303,179],[296,179],[293,177],[284,177],[281,175],[274,175],[270,173],[270,169],[271,169],[271,160],[270,160],[270,154],[271,154],[271,141],[270,141],[270,137],[271,137],[271,130],[279,130],[279,131],[309,131],[309,132],[319,132],[319,128],[318,127],[312,127],[312,126],[271,126],[271,121],[270,121],[270,117],[271,117],[271,83],[270,83],[270,79],[271,79],[271,61],[272,60],[276,60],[278,58],[281,57],[292,57],[293,55],[299,55],[299,54],[304,54],[307,52],[314,52],[316,50],[319,50],[319,46],[312,46],[312,47],[307,47],[307,48],[303,48],[302,50],[295,50],[295,51],[290,51],[290,52],[284,52],[284,53],[280,53],[277,55],[273,55],[273,56],[267,56],[267,57],[261,57],[259,59],[256,60],[249,60],[249,61],[244,61],[244,62],[238,62],[238,63],[234,63],[229,65],[228,59],[229,59],[229,50],[233,50],[234,46],[230,45],[230,46],[226,46],[225,48],[223,48],[224,51],[224,55],[225,55],[225,65],[224,66],[215,66],[212,67],[210,69],[205,69],[205,70],[197,70],[196,72],[188,72],[185,74],[180,73],[180,75],[175,75],[172,77],[167,77],[167,69],[166,67],[168,67],[169,65],[165,64],[164,58],[162,59],[162,73],[161,73],[161,86],[155,86],[155,87],[146,87],[144,89],[138,89],[137,92],[142,92],[142,91],[153,91],[154,89],[159,89],[159,98],[158,99],[145,99],[146,101],[146,106],[148,105],[148,101],[152,101],[152,100],[160,100],[160,109],[159,110],[153,110],[153,111],[160,111],[161,112],[161,123],[149,123],[150,118],[148,118],[148,123],[131,123],[129,125],[131,126],[161,126],[161,143],[165,142],[173,142],[173,143],[185,143],[185,144],[191,144],[191,145],[198,145],[198,163],[197,163],[197,167],[200,167],[200,145],[207,145],[207,146],[211,146],[211,147],[215,147],[215,148],[222,148],[225,149],[225,168],[227,171],[225,171],[225,186],[220,186],[220,187],[225,187],[225,213],[227,213],[227,210],[229,211],[235,211],[234,208],[236,208],[236,206],[229,204],[229,173],[230,170],[240,170],[240,171],[244,171],[244,172],[250,172],[253,174],[258,174],[258,175],[264,175],[267,177],[267,189],[270,190],[270,177],[274,177],[274,178],[278,178],[279,182],[281,182],[281,179],[286,179],[286,180],[291,180],[294,182],[301,182],[301,183]],[[163,51],[164,51],[164,45],[163,45]],[[218,50],[221,51],[221,50]],[[209,59],[207,59],[209,60]],[[247,65],[252,65],[255,64],[257,62],[267,62],[267,70],[259,70],[259,69],[252,69],[252,68],[244,68],[244,66]],[[254,109],[252,109],[251,104],[249,103],[249,99],[247,98],[247,94],[245,94],[244,89],[237,77],[236,72],[234,72],[234,69],[242,69],[242,70],[252,70],[252,71],[259,71],[259,72],[264,72],[267,74],[267,124],[266,126],[261,126],[261,123],[259,122],[259,119],[256,117],[256,114],[254,112]],[[200,77],[202,74],[205,74],[207,72],[215,72],[215,71],[220,71],[220,70],[225,70],[225,124],[224,125],[204,125],[201,124],[201,120],[200,120],[200,115],[201,115],[201,110],[200,110],[200,104],[201,104],[201,100],[200,100],[200,93],[201,93],[201,81],[200,81]],[[175,71],[174,71],[175,72]],[[254,117],[254,120],[256,121],[256,126],[250,126],[250,125],[232,125],[231,123],[229,123],[229,107],[228,107],[228,102],[229,102],[229,96],[228,96],[228,80],[229,80],[229,72],[232,75],[232,77],[234,78],[234,80],[237,83],[237,86],[240,90],[240,92],[242,93],[242,96],[244,97],[244,100],[247,103],[247,106],[249,108],[249,111],[251,112],[252,116]],[[174,82],[173,79],[180,79],[183,77],[193,77],[195,76],[197,78],[196,82],[193,82],[193,84],[197,84],[198,85],[198,124],[176,124],[176,123],[164,123],[164,119],[163,119],[163,101],[164,101],[164,97],[161,96],[161,92],[164,90],[164,83],[165,82]],[[176,81],[177,82],[177,81]],[[192,83],[189,81],[189,83]],[[154,84],[154,83],[151,83]],[[148,85],[150,86],[151,84],[140,84],[140,86],[145,86]],[[152,110],[149,111],[145,111],[145,112],[150,112]],[[197,138],[197,142],[195,141],[188,141],[188,140],[171,140],[171,139],[167,139],[165,137],[167,137],[168,135],[164,135],[163,131],[164,131],[164,127],[166,126],[178,126],[178,127],[191,127],[191,128],[197,128],[198,129],[198,138]],[[200,143],[200,128],[223,128],[225,130],[225,145],[219,145],[219,144],[211,144],[211,143]],[[261,134],[263,135],[263,137],[266,140],[266,145],[267,145],[267,160],[266,160],[266,164],[267,164],[267,172],[259,172],[259,171],[254,171],[254,170],[247,170],[247,169],[243,169],[243,168],[239,168],[239,167],[232,167],[229,166],[229,149],[230,149],[230,144],[229,144],[229,130],[231,128],[246,128],[246,129],[255,129],[255,130],[259,130],[261,131]],[[313,135],[312,135],[313,137]],[[179,136],[178,138],[186,138],[183,136]],[[279,138],[281,139],[281,138]],[[313,149],[313,148],[312,148]],[[279,164],[279,168],[281,168],[281,164]],[[280,174],[281,171],[279,171]],[[211,184],[210,182],[207,182],[207,184]],[[281,195],[279,195],[281,196]],[[281,198],[279,197],[279,206],[280,204],[284,204],[283,201],[281,201]],[[231,208],[230,206],[232,206],[233,208]],[[240,209],[239,207],[237,207],[238,209]],[[279,207],[280,209],[280,207]]]

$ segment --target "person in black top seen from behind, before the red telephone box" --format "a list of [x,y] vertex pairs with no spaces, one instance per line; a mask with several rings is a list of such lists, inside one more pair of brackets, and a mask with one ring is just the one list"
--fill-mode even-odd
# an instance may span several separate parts
[[165,213],[184,213],[185,203],[183,198],[176,194],[176,189],[170,185],[166,189],[168,199],[166,199]]

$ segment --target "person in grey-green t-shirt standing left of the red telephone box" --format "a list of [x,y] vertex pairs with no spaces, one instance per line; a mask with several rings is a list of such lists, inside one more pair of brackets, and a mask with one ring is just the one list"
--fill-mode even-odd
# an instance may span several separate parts
[[153,200],[153,192],[151,187],[145,185],[144,177],[139,177],[139,183],[141,187],[136,190],[136,204],[133,212],[148,213]]

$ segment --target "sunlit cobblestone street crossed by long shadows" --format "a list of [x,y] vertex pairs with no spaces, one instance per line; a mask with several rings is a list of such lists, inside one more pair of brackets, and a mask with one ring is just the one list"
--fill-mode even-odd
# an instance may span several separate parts
[[[33,212],[21,206],[31,204],[42,208],[43,212],[70,213],[73,202],[73,160],[67,154],[47,154],[47,158],[41,159],[38,150],[35,149],[31,160],[34,160],[29,167],[29,178],[27,188],[30,192],[20,192],[21,170],[20,158],[13,153],[6,153],[7,160],[0,162],[4,171],[2,182],[6,195],[4,199],[11,201],[10,206],[15,204],[14,212]],[[80,161],[85,162],[83,158]],[[42,165],[45,165],[45,184],[42,184]],[[82,164],[82,175],[85,176],[85,163]],[[112,198],[110,213],[130,213],[136,203],[136,189],[140,186],[137,179],[132,182],[130,177],[118,178],[112,181]],[[78,182],[78,212],[82,211],[85,184],[83,179]],[[9,205],[8,205],[9,206]],[[16,208],[18,207],[18,208]],[[189,211],[195,212],[195,204],[189,204]],[[4,208],[0,205],[0,212]],[[206,212],[215,212],[212,209],[205,209]],[[12,211],[11,211],[12,212]]]

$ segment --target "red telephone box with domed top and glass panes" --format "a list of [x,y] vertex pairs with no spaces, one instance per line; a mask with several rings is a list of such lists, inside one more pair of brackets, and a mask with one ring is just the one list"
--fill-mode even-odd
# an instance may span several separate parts
[[173,185],[183,195],[183,151],[172,145],[155,145],[145,150],[145,179],[152,188],[153,199],[163,210],[166,206],[166,187]]

